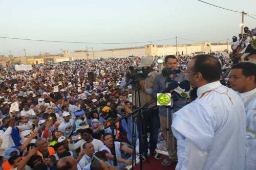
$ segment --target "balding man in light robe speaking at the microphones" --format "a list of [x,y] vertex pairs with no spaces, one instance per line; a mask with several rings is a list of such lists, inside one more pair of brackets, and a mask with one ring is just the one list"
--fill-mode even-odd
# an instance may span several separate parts
[[239,95],[219,82],[220,62],[198,55],[188,63],[188,80],[198,98],[175,112],[177,169],[245,168],[245,109]]

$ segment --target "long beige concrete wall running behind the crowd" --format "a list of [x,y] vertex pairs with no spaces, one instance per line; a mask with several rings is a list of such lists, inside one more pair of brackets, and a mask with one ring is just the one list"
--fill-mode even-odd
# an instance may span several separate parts
[[[229,50],[230,50],[230,45]],[[180,55],[190,55],[195,52],[217,52],[224,51],[227,49],[227,45],[212,45],[210,42],[204,42],[200,44],[188,44],[188,45],[178,45],[178,54]],[[165,56],[165,55],[176,55],[176,45],[155,45],[148,44],[144,47],[137,48],[122,48],[122,49],[114,49],[114,50],[105,50],[105,51],[94,51],[93,52],[70,52],[64,53],[64,57],[72,58],[72,60],[80,60],[80,59],[100,59],[102,58],[122,58],[127,56]],[[87,56],[88,55],[88,56]]]

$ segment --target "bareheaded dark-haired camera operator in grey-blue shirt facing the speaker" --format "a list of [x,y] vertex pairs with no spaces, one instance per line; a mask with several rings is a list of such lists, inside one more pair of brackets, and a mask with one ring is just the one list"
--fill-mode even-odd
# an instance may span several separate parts
[[[164,58],[164,69],[173,69],[173,74],[169,74],[167,76],[164,76],[165,74],[160,74],[156,77],[154,81],[154,86],[153,86],[153,96],[156,98],[157,93],[160,91],[163,91],[166,89],[166,82],[170,82],[172,80],[175,80],[177,82],[182,82],[183,80],[187,80],[187,77],[182,74],[182,73],[176,73],[178,71],[178,59],[173,56],[169,55]],[[174,100],[174,105],[173,105],[173,111],[176,112],[186,104],[186,99],[181,98],[180,96],[177,96],[176,100]],[[168,144],[168,153],[169,153],[169,158],[166,158],[162,161],[162,164],[167,166],[172,164],[173,162],[177,162],[177,147],[176,147],[176,139],[175,139],[175,149],[172,149],[172,131],[170,130],[170,126],[172,125],[172,115],[171,115],[171,109],[168,108],[168,127],[167,126],[167,110],[166,106],[160,106],[159,107],[159,117],[160,117],[160,123],[161,123],[161,128],[163,130],[164,134],[164,139],[166,144]],[[169,139],[167,143],[167,130],[166,128],[169,128]],[[172,150],[171,150],[172,149]]]

